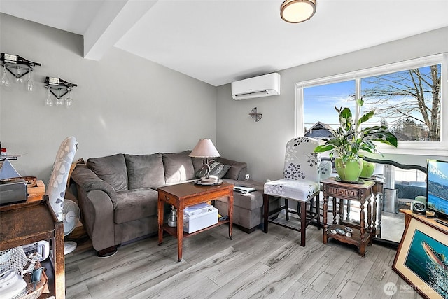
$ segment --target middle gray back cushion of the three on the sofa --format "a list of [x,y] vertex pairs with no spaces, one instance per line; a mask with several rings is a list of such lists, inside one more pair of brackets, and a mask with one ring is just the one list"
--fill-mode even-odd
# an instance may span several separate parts
[[127,155],[127,186],[130,190],[138,188],[157,188],[165,184],[162,154]]

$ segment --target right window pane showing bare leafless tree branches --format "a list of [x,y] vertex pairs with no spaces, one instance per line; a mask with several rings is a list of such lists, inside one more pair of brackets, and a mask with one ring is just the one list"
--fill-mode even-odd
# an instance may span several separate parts
[[388,125],[398,141],[440,141],[441,64],[361,79],[368,125]]

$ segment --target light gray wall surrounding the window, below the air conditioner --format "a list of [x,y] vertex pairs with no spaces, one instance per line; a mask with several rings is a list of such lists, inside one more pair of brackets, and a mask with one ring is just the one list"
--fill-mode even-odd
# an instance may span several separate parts
[[[222,85],[218,87],[218,149],[225,157],[247,162],[253,179],[279,179],[283,174],[286,142],[294,137],[295,83],[445,52],[448,52],[448,27],[279,71],[281,95],[278,96],[235,101],[230,84]],[[446,66],[442,71],[447,71]],[[258,123],[248,116],[255,106],[263,114]],[[433,157],[428,153],[428,156],[384,158],[424,166],[426,158]]]

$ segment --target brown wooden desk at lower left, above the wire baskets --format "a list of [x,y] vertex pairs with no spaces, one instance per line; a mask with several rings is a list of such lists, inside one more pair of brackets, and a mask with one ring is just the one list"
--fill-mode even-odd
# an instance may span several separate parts
[[51,240],[55,281],[49,283],[50,295],[65,298],[64,224],[57,220],[48,197],[0,207],[0,228],[0,251]]

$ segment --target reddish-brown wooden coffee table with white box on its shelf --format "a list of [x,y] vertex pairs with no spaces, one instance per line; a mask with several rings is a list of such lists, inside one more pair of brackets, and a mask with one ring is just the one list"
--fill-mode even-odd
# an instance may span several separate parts
[[[159,245],[163,241],[163,231],[165,230],[170,235],[177,237],[177,253],[180,262],[182,260],[182,241],[184,237],[190,237],[196,235],[204,230],[215,228],[216,226],[229,223],[229,238],[232,239],[232,220],[233,220],[233,185],[223,182],[218,186],[198,186],[193,182],[179,183],[176,185],[165,186],[158,188],[159,200],[158,200],[158,223],[159,223]],[[186,207],[200,204],[202,202],[208,202],[209,200],[215,200],[219,197],[228,197],[228,216],[229,219],[225,221],[218,221],[215,225],[211,225],[197,232],[183,232],[183,209]],[[171,204],[176,208],[177,215],[177,227],[172,228],[168,225],[164,225],[164,202]]]

